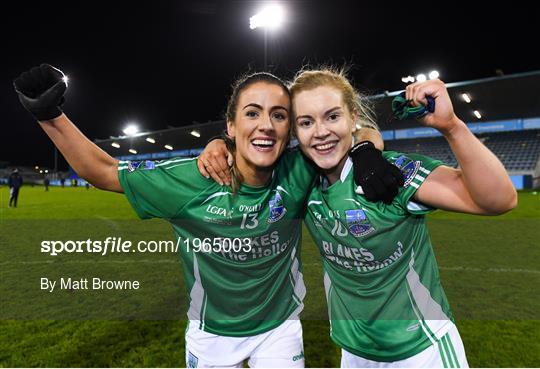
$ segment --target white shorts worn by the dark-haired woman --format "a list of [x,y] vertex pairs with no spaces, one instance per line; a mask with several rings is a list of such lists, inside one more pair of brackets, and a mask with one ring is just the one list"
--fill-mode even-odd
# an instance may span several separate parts
[[199,329],[191,320],[186,330],[186,367],[242,368],[248,360],[251,368],[303,368],[304,344],[299,319],[256,336],[218,336]]

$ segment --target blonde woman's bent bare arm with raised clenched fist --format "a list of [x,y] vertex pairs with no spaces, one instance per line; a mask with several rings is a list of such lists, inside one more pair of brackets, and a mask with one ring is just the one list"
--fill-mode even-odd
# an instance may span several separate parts
[[459,169],[438,167],[426,178],[415,199],[439,208],[471,214],[497,215],[517,205],[517,193],[499,159],[454,113],[444,83],[430,80],[407,86],[413,105],[435,98],[435,111],[421,122],[437,129],[448,141]]

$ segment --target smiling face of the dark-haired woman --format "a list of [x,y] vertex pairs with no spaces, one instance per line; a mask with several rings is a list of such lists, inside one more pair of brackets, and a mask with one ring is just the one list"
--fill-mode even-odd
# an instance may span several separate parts
[[227,132],[235,139],[235,162],[246,183],[268,180],[288,143],[289,110],[289,96],[277,84],[255,82],[240,93]]

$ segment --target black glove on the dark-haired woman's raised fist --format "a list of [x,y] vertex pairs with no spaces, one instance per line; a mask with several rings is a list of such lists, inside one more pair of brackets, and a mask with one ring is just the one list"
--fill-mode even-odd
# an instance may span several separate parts
[[49,64],[41,64],[21,73],[13,81],[19,101],[37,120],[54,119],[62,114],[67,84],[64,73]]

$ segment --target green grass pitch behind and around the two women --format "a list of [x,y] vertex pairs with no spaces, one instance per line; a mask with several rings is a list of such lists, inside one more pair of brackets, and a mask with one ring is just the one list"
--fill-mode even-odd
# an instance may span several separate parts
[[[75,260],[72,255],[51,258],[39,253],[39,242],[45,237],[62,239],[66,234],[99,238],[114,231],[133,238],[171,239],[165,222],[139,221],[123,195],[95,189],[45,192],[42,187],[23,187],[17,209],[7,207],[8,196],[8,189],[1,187],[0,366],[184,365],[186,322],[176,312],[186,301],[174,255],[153,254],[150,260],[146,255],[144,260],[134,259],[133,265],[142,267],[126,270],[118,267],[122,260],[114,257],[84,255]],[[437,211],[428,219],[442,283],[469,364],[540,366],[540,195],[521,192],[518,208],[500,217]],[[308,290],[303,314],[306,365],[339,367],[340,351],[330,341],[324,319],[321,263],[307,232],[302,257]],[[34,275],[55,270],[84,274],[103,269],[134,273],[130,276],[139,273],[156,285],[171,278],[178,284],[143,300],[134,299],[137,313],[131,320],[125,320],[125,312],[115,315],[111,309],[118,294],[104,295],[95,306],[81,300],[79,310],[70,305],[66,311],[61,301],[44,299],[29,284],[36,283]],[[69,294],[65,298],[73,300]],[[56,309],[62,320],[37,319],[50,314],[50,309]],[[73,311],[88,315],[65,320]],[[92,315],[96,312],[110,319],[96,320]]]

